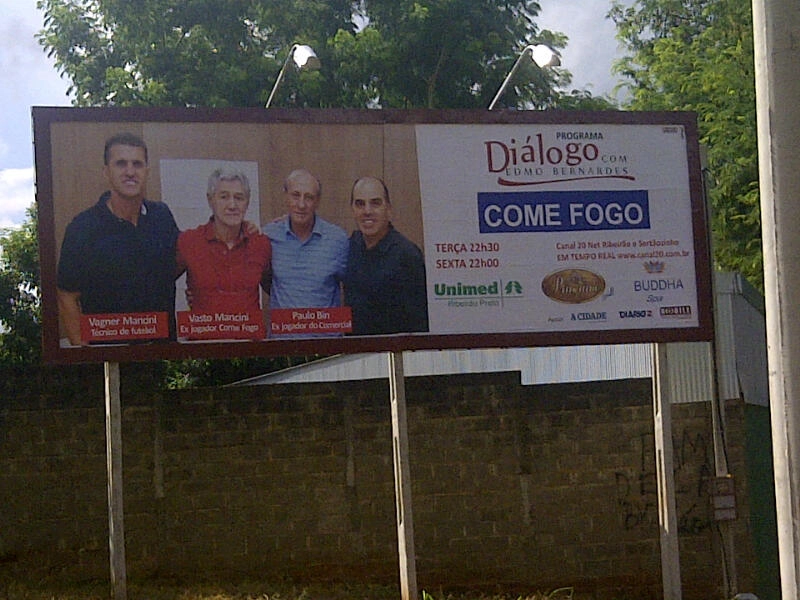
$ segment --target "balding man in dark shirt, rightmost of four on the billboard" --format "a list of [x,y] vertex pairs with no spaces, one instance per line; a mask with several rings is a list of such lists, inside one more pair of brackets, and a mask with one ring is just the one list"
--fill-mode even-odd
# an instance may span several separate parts
[[358,230],[350,236],[344,294],[353,334],[428,331],[425,261],[392,226],[386,184],[376,177],[356,180],[350,207]]

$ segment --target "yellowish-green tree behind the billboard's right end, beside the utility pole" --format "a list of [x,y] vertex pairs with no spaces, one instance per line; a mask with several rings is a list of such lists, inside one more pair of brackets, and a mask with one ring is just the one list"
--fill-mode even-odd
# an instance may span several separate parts
[[627,108],[698,114],[716,265],[763,289],[749,0],[615,2],[609,14],[628,52],[616,65]]

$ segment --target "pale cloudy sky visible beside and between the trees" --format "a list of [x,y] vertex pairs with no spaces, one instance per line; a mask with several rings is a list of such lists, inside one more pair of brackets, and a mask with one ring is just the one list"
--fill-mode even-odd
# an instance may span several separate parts
[[[611,0],[540,0],[538,25],[569,37],[561,64],[573,88],[612,95],[618,46],[605,18]],[[564,7],[568,6],[568,9]],[[34,199],[32,106],[69,106],[69,82],[35,38],[42,28],[36,0],[0,0],[0,228],[19,225]]]

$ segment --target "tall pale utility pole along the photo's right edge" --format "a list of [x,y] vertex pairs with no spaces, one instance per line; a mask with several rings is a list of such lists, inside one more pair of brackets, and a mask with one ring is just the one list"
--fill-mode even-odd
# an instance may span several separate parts
[[800,4],[753,0],[781,594],[800,598]]

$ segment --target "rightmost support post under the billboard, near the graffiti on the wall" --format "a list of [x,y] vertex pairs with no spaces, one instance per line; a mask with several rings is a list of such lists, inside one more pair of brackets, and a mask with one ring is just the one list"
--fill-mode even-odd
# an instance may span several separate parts
[[667,345],[652,344],[653,422],[655,431],[658,524],[661,537],[661,581],[664,598],[681,600],[681,564],[675,474],[672,462],[672,410],[669,396]]

